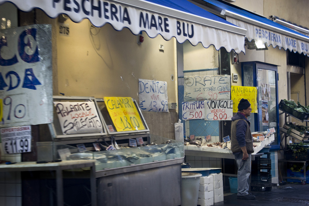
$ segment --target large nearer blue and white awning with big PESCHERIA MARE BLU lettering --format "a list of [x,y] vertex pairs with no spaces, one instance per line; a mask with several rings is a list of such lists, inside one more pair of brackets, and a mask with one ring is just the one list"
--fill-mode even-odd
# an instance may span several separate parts
[[110,23],[117,31],[127,27],[135,35],[145,31],[154,38],[175,37],[179,43],[199,42],[228,52],[244,52],[246,29],[211,14],[186,0],[0,0],[12,2],[22,11],[43,10],[49,17],[66,14],[74,22],[89,19],[96,27]]

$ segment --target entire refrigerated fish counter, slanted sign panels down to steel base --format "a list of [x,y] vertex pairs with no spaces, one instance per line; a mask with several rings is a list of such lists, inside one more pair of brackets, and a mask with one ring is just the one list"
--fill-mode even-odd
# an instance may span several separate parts
[[[94,159],[98,205],[180,205],[183,142],[150,134],[138,103],[132,98],[127,100],[132,101],[130,106],[137,112],[132,112],[132,121],[128,117],[115,122],[104,99],[53,96],[51,141],[36,143],[38,161]],[[91,108],[88,111],[93,116],[97,114],[89,121],[90,129],[81,130],[82,126],[87,127],[84,111],[77,116],[73,112],[80,105]],[[83,120],[76,120],[78,117]],[[123,120],[134,124],[134,128],[120,131]]]

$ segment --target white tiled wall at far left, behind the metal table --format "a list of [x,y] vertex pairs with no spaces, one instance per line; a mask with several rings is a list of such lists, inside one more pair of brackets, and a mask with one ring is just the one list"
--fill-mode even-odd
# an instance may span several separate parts
[[[5,154],[0,143],[0,160],[21,162],[21,154]],[[20,172],[0,172],[0,205],[21,206],[22,187]]]

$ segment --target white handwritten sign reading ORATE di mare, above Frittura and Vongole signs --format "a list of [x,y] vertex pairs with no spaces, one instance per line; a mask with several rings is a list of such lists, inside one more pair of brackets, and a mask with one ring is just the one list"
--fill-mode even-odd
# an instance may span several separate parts
[[231,76],[186,76],[184,77],[184,100],[230,99]]

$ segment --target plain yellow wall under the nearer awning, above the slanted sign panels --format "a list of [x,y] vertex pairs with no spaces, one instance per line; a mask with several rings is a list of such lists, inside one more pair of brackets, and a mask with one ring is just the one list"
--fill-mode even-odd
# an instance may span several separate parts
[[[65,95],[129,96],[138,100],[138,79],[167,82],[168,102],[176,102],[175,39],[154,39],[145,33],[142,44],[129,29],[116,31],[110,24],[92,27],[88,20],[70,20],[70,36],[57,36],[58,90]],[[164,52],[159,51],[163,44]]]

